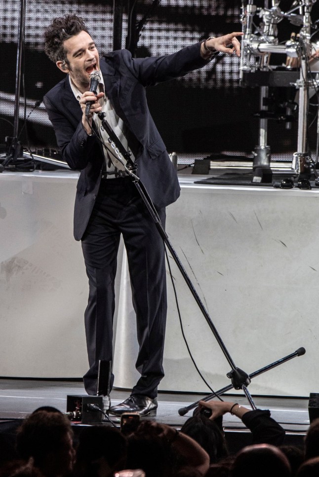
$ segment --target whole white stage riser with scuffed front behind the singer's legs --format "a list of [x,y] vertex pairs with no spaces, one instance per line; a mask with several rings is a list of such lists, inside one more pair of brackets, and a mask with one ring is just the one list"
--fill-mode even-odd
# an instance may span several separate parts
[[[0,175],[0,376],[80,377],[87,369],[88,285],[72,232],[77,177]],[[250,373],[306,348],[305,356],[256,377],[250,392],[317,392],[319,191],[181,185],[166,230],[235,364]],[[214,389],[223,388],[230,366],[171,265],[193,356]],[[167,285],[160,389],[206,392],[182,339],[168,273]],[[129,388],[138,376],[137,342],[122,247],[116,288],[115,385]]]

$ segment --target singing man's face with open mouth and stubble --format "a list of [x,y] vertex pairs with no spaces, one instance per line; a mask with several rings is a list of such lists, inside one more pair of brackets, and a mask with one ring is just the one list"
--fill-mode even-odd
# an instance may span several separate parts
[[[90,35],[84,31],[64,41],[67,73],[81,93],[88,91],[90,73],[100,69],[99,54]],[[57,62],[60,63],[60,62]],[[59,67],[59,65],[58,65]],[[59,67],[60,68],[60,67]]]

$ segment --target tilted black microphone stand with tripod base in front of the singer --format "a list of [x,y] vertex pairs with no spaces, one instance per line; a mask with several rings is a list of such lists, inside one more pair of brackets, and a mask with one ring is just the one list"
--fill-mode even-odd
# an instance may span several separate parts
[[[157,229],[158,229],[158,232],[161,236],[161,238],[163,239],[163,242],[164,244],[166,245],[166,247],[168,248],[169,252],[171,253],[178,269],[180,270],[189,290],[191,291],[192,295],[194,296],[195,298],[195,301],[197,302],[198,306],[199,306],[199,309],[201,311],[201,313],[203,314],[210,330],[212,331],[213,335],[215,336],[216,340],[217,340],[217,343],[219,344],[222,352],[224,353],[224,356],[225,358],[227,359],[230,367],[231,367],[231,371],[227,373],[227,377],[231,379],[232,381],[232,384],[229,385],[229,386],[226,386],[225,388],[222,388],[220,389],[219,391],[216,391],[215,393],[211,394],[210,396],[206,397],[204,399],[204,401],[208,401],[209,399],[211,399],[212,397],[214,396],[219,396],[220,394],[223,394],[225,393],[226,391],[228,391],[229,389],[232,389],[232,388],[235,388],[235,389],[241,389],[243,391],[243,393],[245,394],[250,406],[252,409],[256,409],[256,405],[247,389],[247,386],[250,384],[251,382],[251,378],[261,374],[262,372],[265,372],[265,371],[268,371],[269,369],[272,369],[273,367],[276,367],[276,366],[279,366],[280,364],[282,363],[285,363],[286,361],[296,357],[296,356],[302,356],[303,354],[305,354],[306,350],[304,348],[299,348],[297,351],[295,351],[294,353],[266,366],[266,367],[263,367],[261,369],[259,369],[258,371],[255,371],[253,372],[250,376],[245,372],[243,371],[242,369],[240,369],[239,367],[237,367],[231,357],[231,355],[229,354],[222,338],[220,337],[216,327],[214,326],[207,310],[205,309],[202,301],[200,300],[199,298],[199,295],[197,293],[197,291],[195,290],[194,288],[194,285],[191,281],[191,279],[189,278],[185,268],[183,267],[178,255],[176,254],[172,244],[170,243],[169,239],[168,239],[168,236],[160,222],[160,219],[159,219],[159,215],[157,213],[157,210],[152,202],[152,199],[150,198],[145,186],[143,183],[141,183],[140,179],[138,176],[136,176],[135,174],[135,167],[134,167],[134,163],[132,162],[130,156],[131,156],[131,152],[130,151],[126,151],[125,148],[123,147],[122,143],[120,142],[119,138],[117,137],[117,135],[113,132],[111,126],[109,125],[109,123],[107,122],[105,116],[106,114],[104,112],[100,112],[98,113],[98,116],[100,118],[100,120],[102,121],[102,125],[104,127],[104,129],[106,130],[106,132],[109,134],[110,136],[110,139],[112,142],[114,142],[114,144],[116,145],[117,149],[115,149],[115,152],[118,153],[118,156],[119,156],[119,160],[121,162],[121,164],[125,167],[125,171],[127,172],[127,174],[129,175],[129,177],[131,178],[132,182],[134,183],[136,189],[138,190],[144,204],[146,205],[151,217],[152,217],[152,220],[154,221]],[[120,157],[120,154],[123,156],[124,160],[126,161],[126,164],[124,164],[123,160],[121,159]],[[183,407],[181,409],[179,409],[179,414],[181,416],[185,415],[189,410],[191,409],[194,409],[195,407],[197,407],[198,405],[198,401],[196,403],[193,403],[191,404],[190,406],[188,407]]]

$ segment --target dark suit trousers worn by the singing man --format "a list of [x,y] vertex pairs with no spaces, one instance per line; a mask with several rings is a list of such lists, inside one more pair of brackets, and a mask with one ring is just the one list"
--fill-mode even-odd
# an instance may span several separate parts
[[[158,210],[165,225],[165,209]],[[99,360],[112,360],[114,281],[123,236],[137,320],[141,377],[132,390],[155,398],[164,375],[162,361],[166,323],[164,243],[150,213],[129,178],[102,180],[92,215],[82,237],[89,280],[84,314],[89,370],[83,376],[88,394],[96,394]],[[124,343],[123,343],[124,345]],[[114,376],[111,375],[111,387]]]

